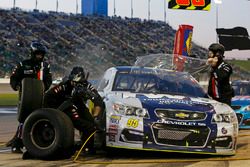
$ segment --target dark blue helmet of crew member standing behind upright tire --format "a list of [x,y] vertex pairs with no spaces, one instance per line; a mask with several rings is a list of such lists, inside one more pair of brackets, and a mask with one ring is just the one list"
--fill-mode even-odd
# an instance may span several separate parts
[[[47,48],[43,44],[37,41],[31,42],[30,54],[32,59],[34,59],[35,61],[42,62],[46,53]],[[41,55],[41,57],[38,58],[36,55]]]

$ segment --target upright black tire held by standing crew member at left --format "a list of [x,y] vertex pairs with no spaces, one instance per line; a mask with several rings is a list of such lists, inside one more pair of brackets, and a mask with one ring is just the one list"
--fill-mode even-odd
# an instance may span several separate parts
[[44,85],[41,80],[24,78],[19,99],[17,119],[23,123],[35,109],[43,106]]

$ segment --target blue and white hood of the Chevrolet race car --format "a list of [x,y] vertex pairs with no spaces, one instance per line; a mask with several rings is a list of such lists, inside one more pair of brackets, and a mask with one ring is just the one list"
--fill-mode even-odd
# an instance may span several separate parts
[[[219,103],[215,100],[200,97],[187,97],[169,94],[136,94],[136,93],[115,93],[113,96],[115,101],[143,107],[148,110],[157,108],[173,109],[173,110],[189,110],[200,112],[216,112],[225,113],[233,110],[226,104]],[[115,96],[115,97],[114,97]]]

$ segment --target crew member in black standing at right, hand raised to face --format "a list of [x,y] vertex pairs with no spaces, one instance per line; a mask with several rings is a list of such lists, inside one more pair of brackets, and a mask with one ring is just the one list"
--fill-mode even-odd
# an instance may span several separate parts
[[208,50],[207,64],[211,66],[208,95],[214,100],[230,106],[234,92],[229,81],[233,70],[223,60],[225,48],[219,43],[213,43]]

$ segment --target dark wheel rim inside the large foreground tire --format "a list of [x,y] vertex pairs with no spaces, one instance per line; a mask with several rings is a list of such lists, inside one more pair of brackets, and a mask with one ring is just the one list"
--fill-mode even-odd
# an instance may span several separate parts
[[56,129],[49,120],[39,120],[32,126],[31,140],[36,147],[48,149],[56,140]]

